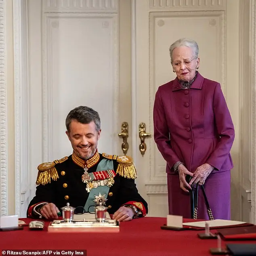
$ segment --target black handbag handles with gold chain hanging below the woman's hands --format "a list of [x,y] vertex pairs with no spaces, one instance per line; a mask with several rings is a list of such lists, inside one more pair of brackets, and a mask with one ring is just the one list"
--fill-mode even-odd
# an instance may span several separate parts
[[[191,180],[191,176],[187,175],[186,176],[186,181],[187,183],[189,183],[189,181]],[[210,220],[214,220],[213,215],[212,215],[212,210],[210,208],[207,196],[206,196],[206,191],[204,189],[204,185],[200,185],[201,189],[202,189],[202,193],[204,195],[204,201],[206,204],[206,208],[207,208],[207,213],[208,216],[210,218]],[[193,186],[193,184],[191,184],[191,191],[190,193],[190,209],[191,209],[191,218],[192,219],[197,219],[197,210],[198,210],[198,189],[199,189],[199,185],[197,183],[197,185]]]

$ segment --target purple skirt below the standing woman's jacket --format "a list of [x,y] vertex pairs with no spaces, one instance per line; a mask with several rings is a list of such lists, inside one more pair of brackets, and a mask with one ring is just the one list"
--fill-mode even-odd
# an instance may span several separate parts
[[[169,214],[191,218],[190,194],[180,189],[178,174],[167,174]],[[211,173],[206,178],[204,189],[214,219],[230,220],[230,170]],[[197,218],[208,220],[204,196],[198,189]]]

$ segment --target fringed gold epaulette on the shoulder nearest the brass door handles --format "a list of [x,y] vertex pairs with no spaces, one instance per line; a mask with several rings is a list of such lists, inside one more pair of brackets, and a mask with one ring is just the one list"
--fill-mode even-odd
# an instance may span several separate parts
[[127,155],[119,155],[117,157],[117,161],[119,163],[118,169],[116,170],[117,174],[123,176],[124,178],[137,178],[136,168],[132,157]]

